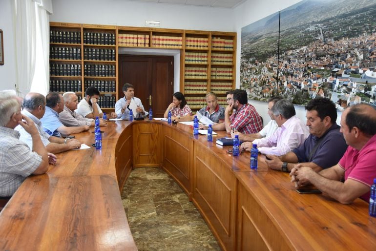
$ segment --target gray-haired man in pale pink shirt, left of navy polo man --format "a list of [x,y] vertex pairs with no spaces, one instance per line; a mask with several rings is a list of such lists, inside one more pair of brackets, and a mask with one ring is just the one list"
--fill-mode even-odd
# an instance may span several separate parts
[[278,129],[269,138],[255,139],[253,142],[245,142],[242,149],[251,151],[252,144],[257,144],[262,154],[284,155],[292,149],[304,143],[309,131],[303,122],[295,117],[295,107],[286,99],[274,103],[272,115],[278,125]]

